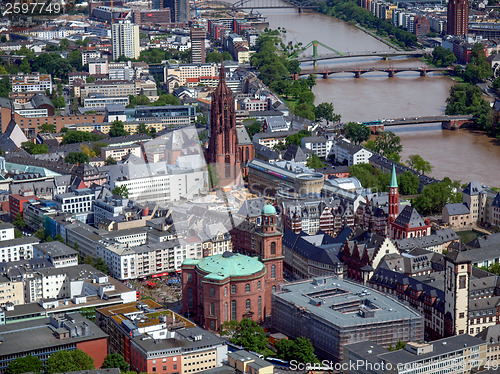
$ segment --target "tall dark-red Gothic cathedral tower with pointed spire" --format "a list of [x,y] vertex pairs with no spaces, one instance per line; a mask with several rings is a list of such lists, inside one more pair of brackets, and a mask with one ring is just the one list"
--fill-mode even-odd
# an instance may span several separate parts
[[226,85],[226,73],[221,61],[219,85],[212,94],[207,163],[237,165],[239,152],[234,97]]

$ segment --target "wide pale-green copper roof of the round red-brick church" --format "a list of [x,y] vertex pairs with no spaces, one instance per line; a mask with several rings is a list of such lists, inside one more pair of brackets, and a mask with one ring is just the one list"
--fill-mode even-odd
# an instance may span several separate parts
[[258,273],[264,264],[257,257],[240,253],[224,252],[221,255],[205,257],[198,262],[198,269],[207,272],[205,279],[222,280],[229,277],[244,277]]

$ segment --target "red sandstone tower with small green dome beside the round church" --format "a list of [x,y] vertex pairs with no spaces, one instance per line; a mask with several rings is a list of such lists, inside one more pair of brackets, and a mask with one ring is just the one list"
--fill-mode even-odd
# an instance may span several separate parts
[[278,230],[278,216],[272,205],[262,208],[261,225],[255,231],[256,252],[266,267],[266,302],[264,316],[271,315],[271,295],[283,283],[283,233]]

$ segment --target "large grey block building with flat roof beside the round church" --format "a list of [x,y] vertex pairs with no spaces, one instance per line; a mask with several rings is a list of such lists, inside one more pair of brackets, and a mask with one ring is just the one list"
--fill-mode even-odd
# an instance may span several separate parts
[[424,319],[371,288],[335,277],[289,283],[272,296],[273,328],[306,337],[321,356],[342,361],[343,346],[366,340],[389,347],[422,341]]

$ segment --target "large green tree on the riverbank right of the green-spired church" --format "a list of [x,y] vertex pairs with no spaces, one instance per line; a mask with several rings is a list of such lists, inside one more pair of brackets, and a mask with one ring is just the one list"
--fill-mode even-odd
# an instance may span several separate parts
[[421,194],[413,201],[413,206],[421,214],[441,213],[446,204],[460,203],[462,194],[457,192],[459,182],[444,178],[441,182],[425,186]]

